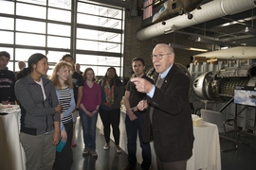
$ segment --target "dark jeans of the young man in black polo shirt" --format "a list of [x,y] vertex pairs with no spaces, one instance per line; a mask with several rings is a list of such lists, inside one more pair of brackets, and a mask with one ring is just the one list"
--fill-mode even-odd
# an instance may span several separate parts
[[126,115],[126,118],[125,118],[125,127],[126,127],[127,140],[128,140],[127,142],[128,162],[130,164],[137,163],[136,152],[137,152],[137,132],[138,132],[138,138],[139,138],[140,147],[142,149],[142,159],[143,159],[141,163],[141,168],[149,169],[151,165],[150,143],[142,142],[142,132],[143,132],[142,130],[143,130],[145,115],[137,111],[135,111],[135,114],[137,115],[137,119],[134,121],[131,121],[128,115]]

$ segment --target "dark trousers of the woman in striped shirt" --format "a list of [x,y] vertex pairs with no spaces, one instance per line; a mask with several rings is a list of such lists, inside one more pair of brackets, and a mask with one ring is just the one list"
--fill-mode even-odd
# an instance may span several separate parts
[[56,151],[54,170],[70,170],[72,165],[73,153],[71,144],[73,137],[73,122],[70,121],[64,124],[64,128],[67,134],[67,140],[62,152]]

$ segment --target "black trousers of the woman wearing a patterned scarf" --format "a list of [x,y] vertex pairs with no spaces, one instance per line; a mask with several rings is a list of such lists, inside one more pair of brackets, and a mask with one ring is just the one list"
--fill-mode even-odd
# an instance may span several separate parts
[[104,126],[104,137],[106,143],[110,142],[110,125],[113,129],[113,136],[115,139],[115,144],[119,145],[119,138],[120,138],[120,130],[119,130],[119,123],[120,123],[120,109],[116,110],[99,110],[101,115],[101,121]]

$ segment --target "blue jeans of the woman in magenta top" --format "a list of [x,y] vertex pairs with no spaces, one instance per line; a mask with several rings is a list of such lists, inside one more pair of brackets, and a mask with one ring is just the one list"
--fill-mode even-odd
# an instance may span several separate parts
[[82,121],[84,148],[96,149],[96,122],[98,112],[92,117],[89,117],[83,110],[79,110],[79,115]]

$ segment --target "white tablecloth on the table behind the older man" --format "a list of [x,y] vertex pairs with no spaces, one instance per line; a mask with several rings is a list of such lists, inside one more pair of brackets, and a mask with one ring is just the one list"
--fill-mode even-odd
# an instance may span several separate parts
[[[121,111],[120,115],[120,147],[127,153],[127,136],[125,130],[125,112]],[[98,116],[97,127],[103,134],[101,116]],[[219,133],[216,125],[203,122],[200,127],[193,127],[194,144],[192,149],[192,158],[187,162],[187,170],[221,170],[220,143]],[[114,141],[111,132],[110,138]],[[152,149],[152,169],[156,169],[155,149],[151,143]],[[141,163],[141,148],[137,137],[137,162]]]

